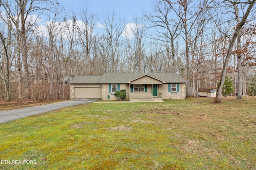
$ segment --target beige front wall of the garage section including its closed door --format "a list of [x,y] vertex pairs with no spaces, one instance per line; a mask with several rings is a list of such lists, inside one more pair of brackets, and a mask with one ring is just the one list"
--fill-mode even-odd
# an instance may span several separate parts
[[75,99],[101,99],[100,84],[74,84]]

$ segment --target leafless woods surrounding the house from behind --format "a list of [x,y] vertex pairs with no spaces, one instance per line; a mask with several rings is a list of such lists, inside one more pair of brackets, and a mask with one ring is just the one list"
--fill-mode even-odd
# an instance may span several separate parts
[[58,0],[0,2],[0,100],[67,99],[70,78],[105,72],[176,72],[188,97],[218,87],[216,102],[229,76],[232,95],[254,96],[256,0],[155,0],[133,23],[66,14]]

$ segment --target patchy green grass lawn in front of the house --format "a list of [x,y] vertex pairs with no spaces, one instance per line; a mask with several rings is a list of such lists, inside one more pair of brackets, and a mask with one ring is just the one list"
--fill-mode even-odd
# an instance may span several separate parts
[[0,169],[256,169],[256,98],[92,103],[0,124]]

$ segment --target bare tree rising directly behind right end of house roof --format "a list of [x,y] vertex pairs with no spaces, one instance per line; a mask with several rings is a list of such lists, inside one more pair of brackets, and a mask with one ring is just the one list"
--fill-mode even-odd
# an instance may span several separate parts
[[174,15],[174,9],[168,1],[158,0],[153,7],[153,12],[144,14],[145,18],[150,22],[151,27],[156,28],[153,39],[164,46],[166,50],[166,61],[168,65],[167,72],[176,72],[176,50],[175,40],[180,35],[180,25],[182,19]]

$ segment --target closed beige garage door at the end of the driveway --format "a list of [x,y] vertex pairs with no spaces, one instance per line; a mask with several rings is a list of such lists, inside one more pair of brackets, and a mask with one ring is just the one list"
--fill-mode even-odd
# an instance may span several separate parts
[[75,87],[75,99],[101,99],[101,88]]

